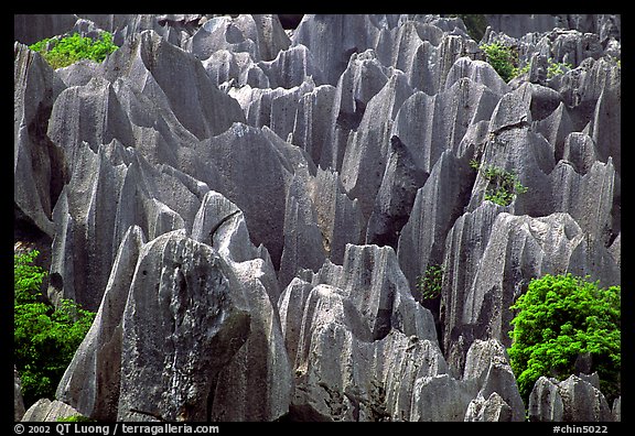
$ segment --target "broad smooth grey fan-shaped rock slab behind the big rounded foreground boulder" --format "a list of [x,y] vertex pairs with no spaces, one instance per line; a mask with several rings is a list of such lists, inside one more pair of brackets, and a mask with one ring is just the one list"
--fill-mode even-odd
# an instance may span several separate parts
[[180,166],[243,210],[251,241],[267,247],[279,269],[287,189],[294,162],[308,163],[301,149],[267,131],[236,123],[183,154]]

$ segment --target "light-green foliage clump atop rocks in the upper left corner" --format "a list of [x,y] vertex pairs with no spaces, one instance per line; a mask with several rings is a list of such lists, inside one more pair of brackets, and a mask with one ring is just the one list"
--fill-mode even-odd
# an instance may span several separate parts
[[112,34],[101,33],[100,40],[80,36],[74,33],[62,39],[45,39],[29,46],[34,52],[40,52],[49,64],[57,69],[76,63],[80,59],[101,62],[118,47],[112,43]]

